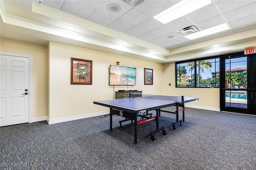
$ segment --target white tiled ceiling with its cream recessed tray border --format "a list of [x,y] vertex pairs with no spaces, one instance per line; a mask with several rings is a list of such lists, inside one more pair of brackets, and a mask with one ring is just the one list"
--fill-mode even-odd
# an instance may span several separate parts
[[[191,53],[203,57],[256,45],[255,0],[212,0],[167,24],[153,16],[180,0],[40,2],[1,0],[1,38],[42,45],[62,42],[160,63],[190,59]],[[230,30],[194,40],[177,32],[192,25],[205,30],[224,23]],[[213,50],[212,45],[219,47]]]

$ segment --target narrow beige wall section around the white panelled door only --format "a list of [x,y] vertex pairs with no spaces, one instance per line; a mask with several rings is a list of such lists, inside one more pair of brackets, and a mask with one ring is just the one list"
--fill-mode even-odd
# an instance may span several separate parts
[[33,115],[43,117],[47,115],[47,47],[32,43],[0,39],[0,51],[32,55],[33,61]]

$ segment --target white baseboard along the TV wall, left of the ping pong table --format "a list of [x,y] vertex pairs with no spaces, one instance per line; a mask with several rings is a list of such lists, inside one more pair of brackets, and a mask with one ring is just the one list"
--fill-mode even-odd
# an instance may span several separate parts
[[77,116],[70,116],[70,117],[64,117],[64,118],[59,118],[59,119],[51,119],[47,117],[47,122],[49,125],[55,124],[55,123],[62,123],[62,122],[68,122],[68,121],[74,121],[78,119],[84,119],[88,117],[95,117],[95,116],[101,116],[101,115],[107,115],[109,114],[109,111],[102,111],[102,112],[97,112],[97,113],[88,113],[84,115],[77,115]]

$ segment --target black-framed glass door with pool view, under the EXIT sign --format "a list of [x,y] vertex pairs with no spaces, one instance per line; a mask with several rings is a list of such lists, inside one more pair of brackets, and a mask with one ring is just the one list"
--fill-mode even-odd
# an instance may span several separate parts
[[255,115],[255,55],[230,55],[221,64],[221,111]]

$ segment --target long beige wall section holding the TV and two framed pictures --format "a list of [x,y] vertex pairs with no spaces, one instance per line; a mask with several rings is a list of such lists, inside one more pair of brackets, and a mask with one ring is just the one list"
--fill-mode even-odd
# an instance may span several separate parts
[[[92,60],[92,85],[70,85],[70,58]],[[50,42],[49,61],[49,119],[58,119],[87,113],[106,111],[108,108],[93,101],[114,98],[113,86],[108,85],[109,66],[136,67],[136,85],[128,89],[143,93],[162,93],[163,65],[122,55],[106,53],[62,43]],[[153,69],[154,85],[144,85],[144,68]],[[126,90],[127,86],[115,86]]]

